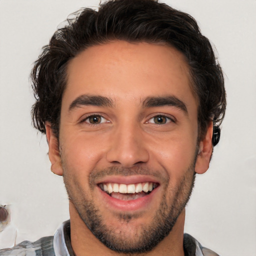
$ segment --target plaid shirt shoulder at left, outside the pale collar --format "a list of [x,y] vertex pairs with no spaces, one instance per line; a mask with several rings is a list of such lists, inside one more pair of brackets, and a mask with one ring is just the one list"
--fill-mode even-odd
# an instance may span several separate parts
[[2,256],[55,256],[53,236],[46,236],[35,242],[22,241],[12,248],[0,250]]

